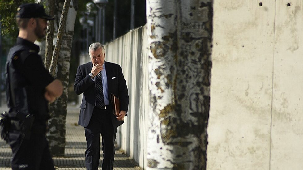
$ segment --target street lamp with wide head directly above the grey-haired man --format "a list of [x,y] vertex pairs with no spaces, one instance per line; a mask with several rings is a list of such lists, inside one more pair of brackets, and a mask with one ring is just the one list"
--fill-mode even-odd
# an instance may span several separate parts
[[[96,6],[99,8],[98,11],[98,41],[100,42],[102,40],[102,43],[104,43],[105,41],[105,6],[106,4],[108,4],[108,0],[94,0],[94,3],[96,4]],[[103,10],[104,11],[103,11]],[[103,13],[103,18],[102,18],[102,13]],[[103,21],[103,24],[101,24]],[[101,31],[101,25],[103,25],[103,29]],[[102,36],[101,36],[102,34]],[[102,37],[102,39],[101,39]]]

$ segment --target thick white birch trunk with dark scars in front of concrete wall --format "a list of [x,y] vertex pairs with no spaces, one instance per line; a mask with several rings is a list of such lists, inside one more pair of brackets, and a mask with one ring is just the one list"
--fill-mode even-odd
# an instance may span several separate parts
[[147,169],[206,169],[212,0],[147,0]]

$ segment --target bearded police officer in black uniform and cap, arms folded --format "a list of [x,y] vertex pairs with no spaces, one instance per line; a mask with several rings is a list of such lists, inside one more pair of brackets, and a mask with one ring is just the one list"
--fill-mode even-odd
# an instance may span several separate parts
[[54,169],[46,122],[48,103],[61,96],[63,87],[45,69],[34,44],[45,36],[47,21],[54,17],[39,4],[23,4],[17,9],[19,35],[6,65],[6,96],[11,124],[8,142],[12,149],[12,169]]

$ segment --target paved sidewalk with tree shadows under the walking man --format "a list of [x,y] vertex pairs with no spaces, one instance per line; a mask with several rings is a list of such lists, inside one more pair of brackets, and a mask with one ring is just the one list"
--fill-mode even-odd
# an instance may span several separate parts
[[[5,106],[0,107],[0,111],[7,110]],[[54,163],[57,170],[86,170],[85,168],[85,150],[86,140],[84,128],[78,123],[79,108],[68,106],[66,122],[66,147],[64,157],[54,157]],[[102,146],[101,146],[102,148]],[[0,170],[10,170],[11,159],[10,147],[0,139]],[[101,167],[103,159],[100,151]],[[101,169],[101,168],[99,168]],[[138,164],[132,160],[123,151],[116,151],[114,160],[114,170],[141,170]]]

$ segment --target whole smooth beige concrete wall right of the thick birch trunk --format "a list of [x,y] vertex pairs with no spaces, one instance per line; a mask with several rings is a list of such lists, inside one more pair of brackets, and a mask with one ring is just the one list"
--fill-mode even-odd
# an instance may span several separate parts
[[207,170],[302,169],[302,10],[214,0]]

